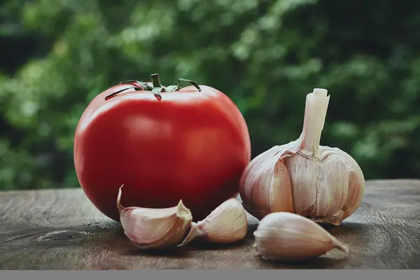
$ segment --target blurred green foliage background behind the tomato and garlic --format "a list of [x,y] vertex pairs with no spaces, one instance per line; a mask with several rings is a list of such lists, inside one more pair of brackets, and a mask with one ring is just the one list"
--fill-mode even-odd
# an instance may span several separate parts
[[122,80],[189,78],[236,102],[253,156],[297,139],[331,94],[321,144],[366,179],[420,171],[420,2],[2,1],[0,189],[77,187],[73,132]]

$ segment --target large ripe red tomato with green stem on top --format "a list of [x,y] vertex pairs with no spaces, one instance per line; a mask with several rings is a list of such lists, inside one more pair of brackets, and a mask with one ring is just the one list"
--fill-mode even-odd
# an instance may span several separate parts
[[[125,207],[165,208],[183,201],[194,221],[239,193],[251,160],[244,117],[207,85],[165,87],[128,81],[94,97],[74,137],[74,165],[87,198],[119,221]],[[179,81],[179,83],[180,83]]]

